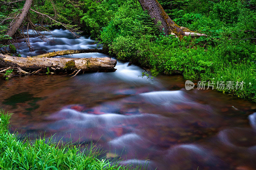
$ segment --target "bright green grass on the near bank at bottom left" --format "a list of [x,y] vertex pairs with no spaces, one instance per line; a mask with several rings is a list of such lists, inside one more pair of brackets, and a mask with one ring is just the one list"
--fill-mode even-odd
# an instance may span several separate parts
[[[9,132],[11,114],[0,110],[0,169],[3,170],[119,170],[132,169],[99,158],[102,153],[92,147],[80,151],[71,143],[62,145],[52,138],[19,140]],[[47,142],[46,142],[47,141]],[[99,160],[100,159],[100,160]]]

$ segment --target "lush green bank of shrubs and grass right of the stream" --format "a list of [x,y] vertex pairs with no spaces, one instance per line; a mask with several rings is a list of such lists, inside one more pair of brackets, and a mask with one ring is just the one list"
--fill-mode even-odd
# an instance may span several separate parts
[[168,1],[160,1],[178,25],[208,37],[180,40],[165,36],[134,1],[133,5],[124,2],[116,10],[99,32],[100,42],[118,60],[150,67],[153,75],[182,74],[187,80],[204,81],[205,89],[209,82],[223,93],[255,102],[255,4],[179,2],[170,7]]

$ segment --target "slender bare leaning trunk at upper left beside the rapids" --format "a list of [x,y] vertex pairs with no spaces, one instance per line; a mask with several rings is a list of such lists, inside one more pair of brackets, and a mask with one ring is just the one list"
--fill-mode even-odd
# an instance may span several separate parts
[[11,25],[11,27],[7,31],[6,35],[9,35],[10,37],[12,37],[15,34],[15,32],[17,32],[17,30],[20,28],[21,24],[23,23],[23,20],[27,16],[32,2],[33,2],[33,0],[26,0],[25,4],[21,10],[20,15],[18,16],[17,19],[15,19],[14,23]]

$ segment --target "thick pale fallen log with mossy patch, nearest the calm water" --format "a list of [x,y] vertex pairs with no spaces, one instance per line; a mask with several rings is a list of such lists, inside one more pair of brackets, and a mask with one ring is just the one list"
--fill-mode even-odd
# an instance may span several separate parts
[[[111,58],[33,58],[14,57],[0,54],[0,68],[16,69],[25,74],[46,74],[46,72],[113,72],[116,60]],[[22,71],[21,71],[22,70]],[[32,73],[29,73],[32,72]]]

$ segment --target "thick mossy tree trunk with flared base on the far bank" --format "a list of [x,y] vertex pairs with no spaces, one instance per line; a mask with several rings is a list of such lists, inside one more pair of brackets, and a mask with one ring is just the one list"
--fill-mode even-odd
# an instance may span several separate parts
[[180,27],[175,24],[157,0],[139,0],[139,2],[143,11],[148,11],[155,25],[157,25],[159,21],[161,22],[159,30],[160,32],[163,31],[165,35],[171,34],[179,38],[182,38],[184,35],[206,36],[205,34],[196,33],[190,31],[188,28]]

